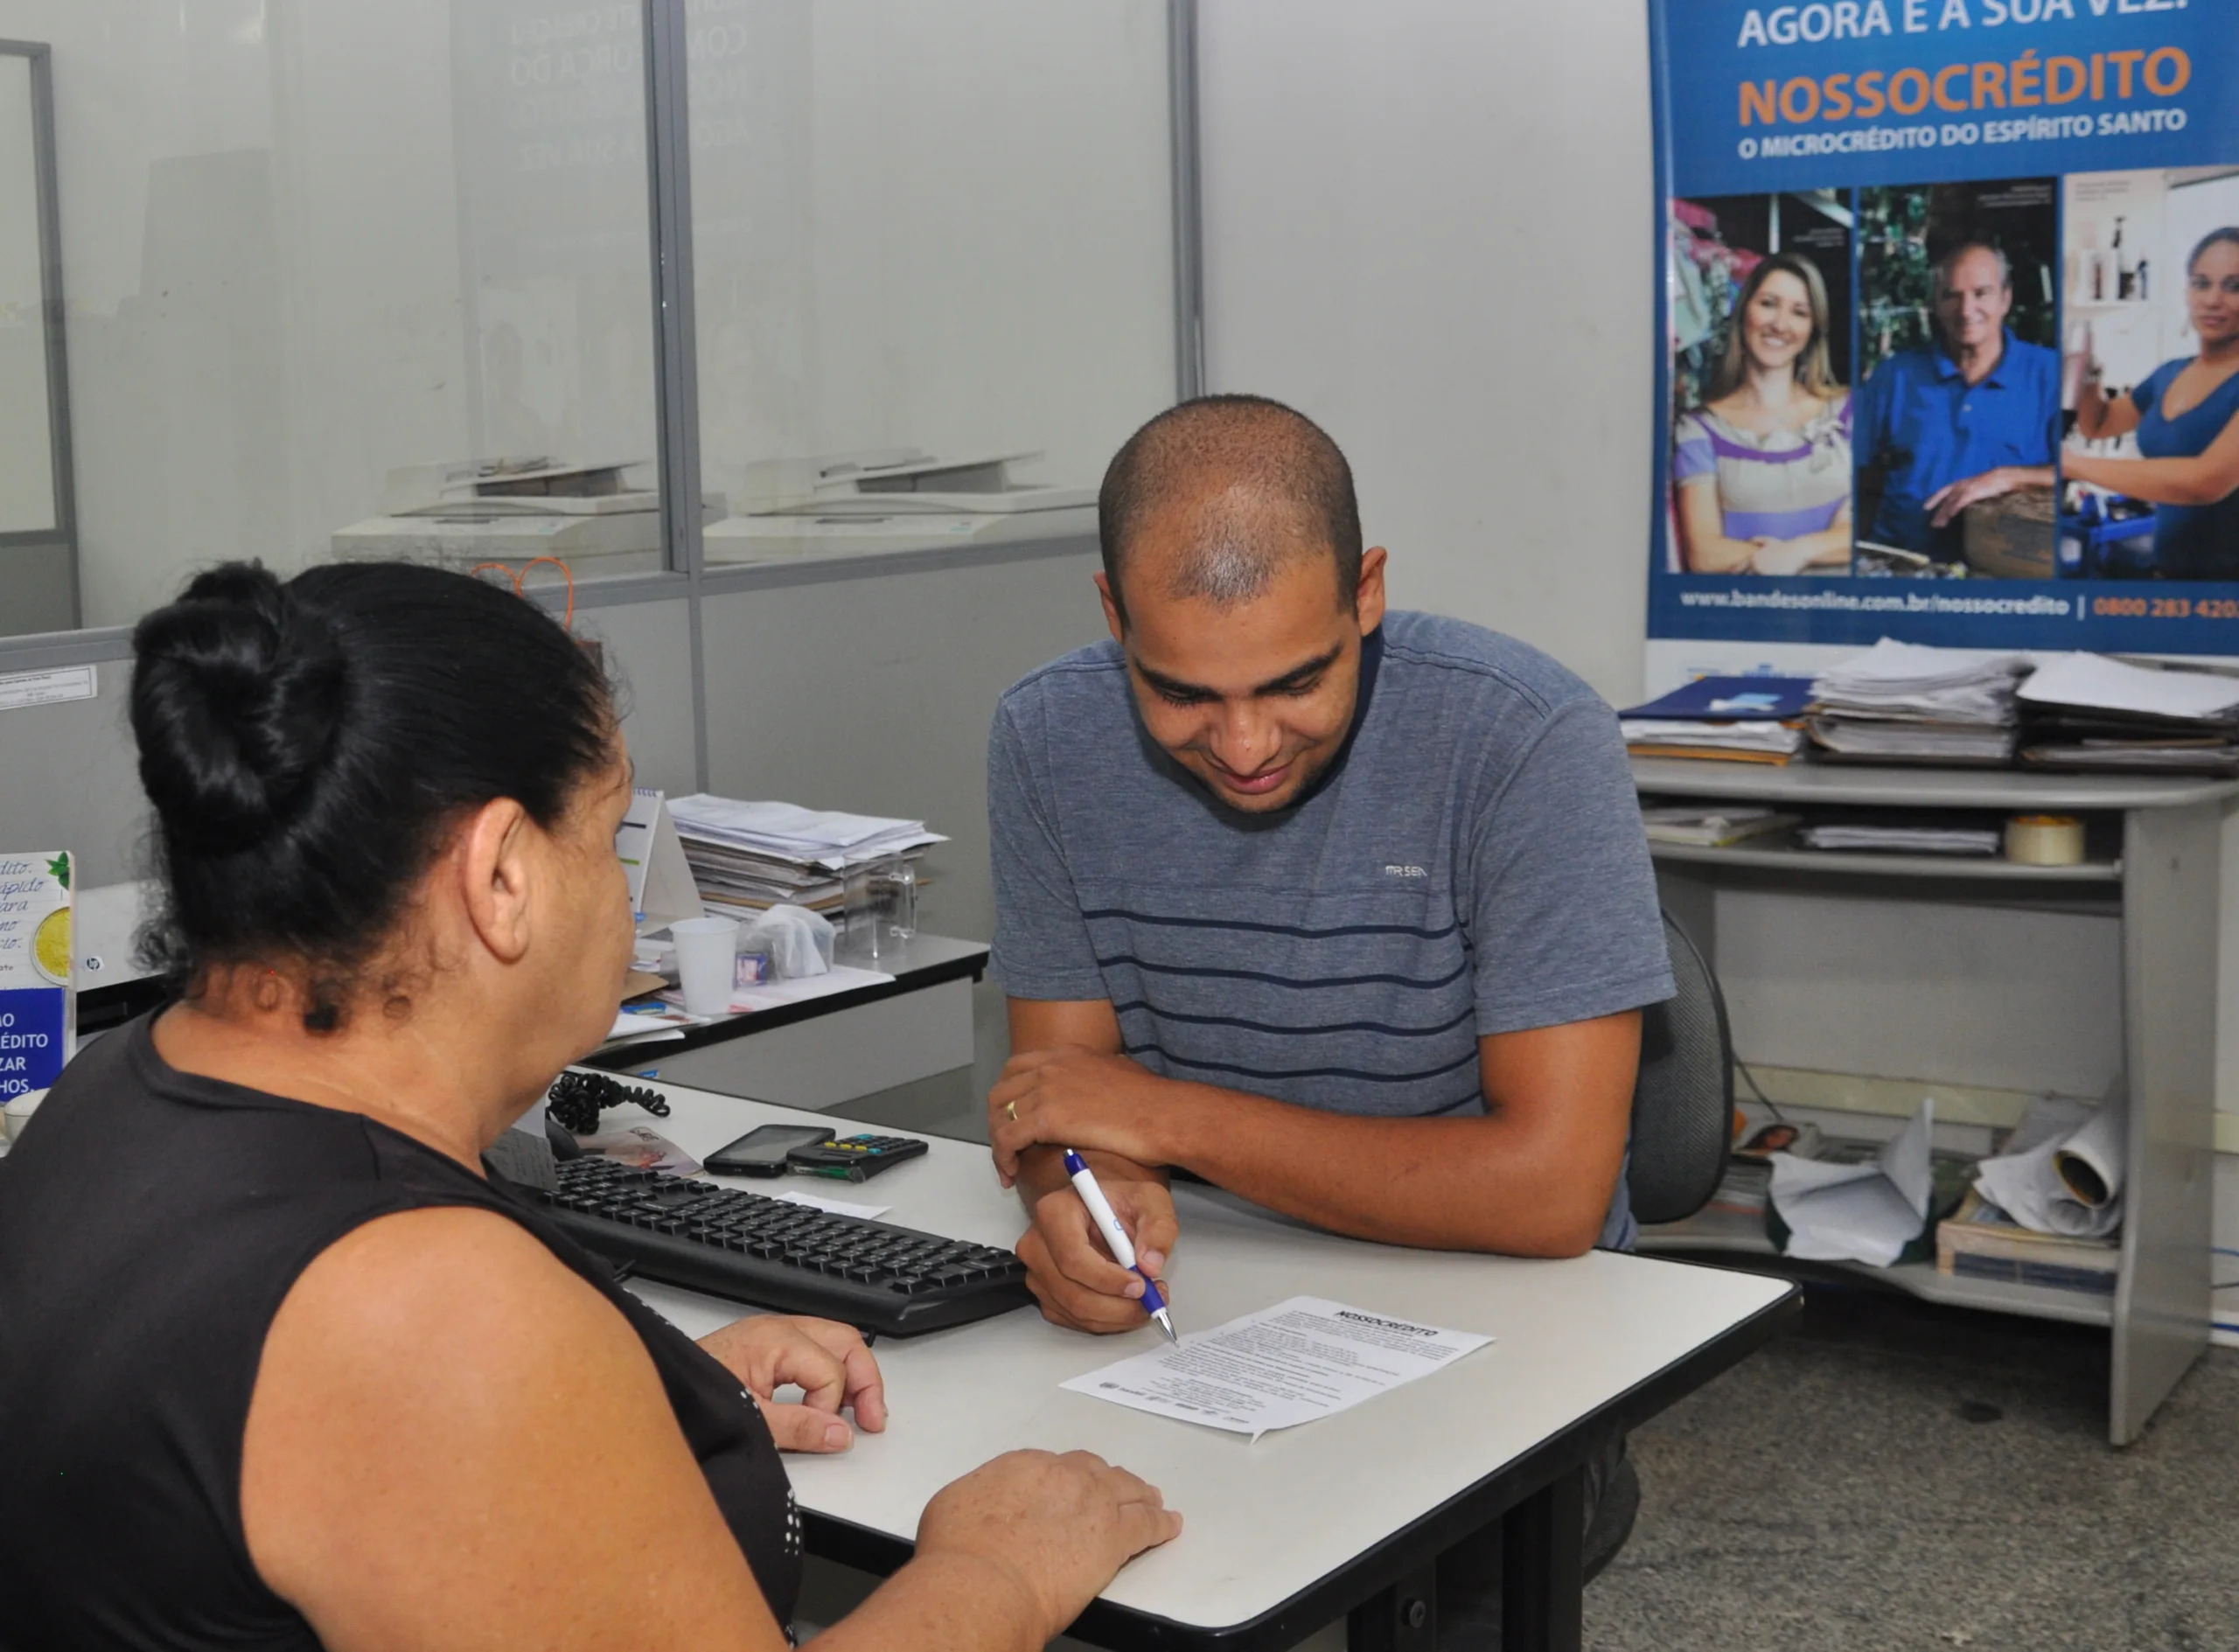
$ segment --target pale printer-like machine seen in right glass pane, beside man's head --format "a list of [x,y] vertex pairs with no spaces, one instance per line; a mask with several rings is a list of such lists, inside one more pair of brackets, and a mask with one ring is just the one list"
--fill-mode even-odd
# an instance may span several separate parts
[[938,459],[922,448],[864,448],[763,459],[746,466],[732,492],[739,515],[708,528],[708,560],[763,562],[1086,533],[1095,488],[1052,488],[1012,475],[1012,466],[1039,457]]

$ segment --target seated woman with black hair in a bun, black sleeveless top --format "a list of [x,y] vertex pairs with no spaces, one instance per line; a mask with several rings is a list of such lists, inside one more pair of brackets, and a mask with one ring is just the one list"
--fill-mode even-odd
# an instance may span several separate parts
[[[777,1652],[777,1453],[887,1426],[862,1339],[694,1345],[481,1164],[629,965],[591,656],[407,564],[217,569],[132,642],[181,996],[0,1160],[0,1641]],[[1012,1453],[828,1643],[1039,1648],[1178,1529]]]

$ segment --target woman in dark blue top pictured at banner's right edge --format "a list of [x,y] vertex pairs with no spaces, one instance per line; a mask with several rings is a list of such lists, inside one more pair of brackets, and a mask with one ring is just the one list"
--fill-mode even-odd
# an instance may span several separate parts
[[2165,360],[2111,401],[2098,363],[2082,365],[2076,434],[2138,434],[2143,459],[2060,454],[2071,481],[2154,506],[2163,580],[2239,580],[2239,228],[2210,231],[2185,264],[2185,309],[2201,351]]

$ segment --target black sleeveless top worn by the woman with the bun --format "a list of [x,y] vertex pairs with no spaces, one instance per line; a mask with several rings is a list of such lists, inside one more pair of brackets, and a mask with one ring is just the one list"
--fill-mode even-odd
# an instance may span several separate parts
[[714,1357],[504,1186],[363,1115],[177,1072],[141,1019],[72,1061],[0,1160],[0,1648],[318,1648],[242,1536],[257,1359],[311,1258],[432,1204],[519,1222],[629,1321],[793,1618],[786,1468]]

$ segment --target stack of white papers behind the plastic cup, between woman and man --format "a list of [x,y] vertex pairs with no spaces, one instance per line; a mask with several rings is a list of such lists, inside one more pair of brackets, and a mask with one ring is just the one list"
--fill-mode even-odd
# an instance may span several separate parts
[[799,804],[748,804],[734,797],[672,797],[669,815],[701,900],[725,916],[752,916],[777,904],[837,911],[846,869],[887,855],[916,860],[945,844],[922,819],[884,819]]

